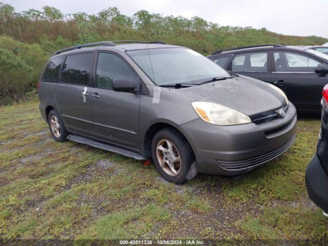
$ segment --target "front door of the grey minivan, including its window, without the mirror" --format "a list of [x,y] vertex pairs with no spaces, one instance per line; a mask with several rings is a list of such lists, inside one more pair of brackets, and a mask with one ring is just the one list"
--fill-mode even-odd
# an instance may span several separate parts
[[99,52],[91,89],[91,110],[94,134],[97,138],[117,145],[139,149],[139,95],[133,92],[113,91],[113,80],[129,78],[140,80],[120,56]]

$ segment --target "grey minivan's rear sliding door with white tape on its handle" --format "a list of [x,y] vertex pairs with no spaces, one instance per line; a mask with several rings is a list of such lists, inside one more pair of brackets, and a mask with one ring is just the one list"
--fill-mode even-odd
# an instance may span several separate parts
[[90,134],[90,70],[93,53],[67,55],[55,89],[57,108],[69,131]]

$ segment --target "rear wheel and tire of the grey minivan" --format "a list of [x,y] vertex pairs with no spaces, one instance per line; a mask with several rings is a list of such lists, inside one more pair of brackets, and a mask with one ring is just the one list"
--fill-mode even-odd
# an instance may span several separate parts
[[[58,124],[55,124],[56,121]],[[55,139],[57,142],[66,141],[66,137],[69,133],[64,126],[63,120],[61,120],[60,116],[54,109],[49,112],[48,125],[53,139]]]

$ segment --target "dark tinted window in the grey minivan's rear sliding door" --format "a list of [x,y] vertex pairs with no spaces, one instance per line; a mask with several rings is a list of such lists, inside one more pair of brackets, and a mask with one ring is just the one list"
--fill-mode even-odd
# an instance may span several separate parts
[[61,69],[61,82],[89,85],[92,56],[93,53],[68,55]]

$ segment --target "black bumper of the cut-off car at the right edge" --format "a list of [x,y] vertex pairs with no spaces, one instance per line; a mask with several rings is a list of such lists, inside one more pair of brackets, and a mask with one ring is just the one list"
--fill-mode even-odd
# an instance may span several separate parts
[[313,157],[306,168],[305,183],[310,199],[323,211],[328,212],[328,178],[317,155]]

